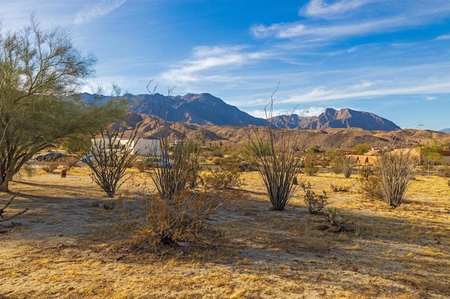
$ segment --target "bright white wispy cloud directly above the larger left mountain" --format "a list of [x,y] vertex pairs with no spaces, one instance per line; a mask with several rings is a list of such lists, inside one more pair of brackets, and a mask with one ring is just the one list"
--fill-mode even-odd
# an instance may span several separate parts
[[229,75],[224,75],[226,69],[233,69],[261,60],[269,54],[247,51],[243,46],[199,46],[193,49],[191,59],[180,65],[174,65],[161,77],[179,84],[193,81],[229,81]]

